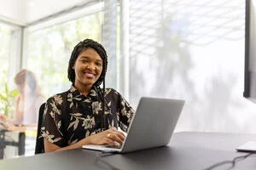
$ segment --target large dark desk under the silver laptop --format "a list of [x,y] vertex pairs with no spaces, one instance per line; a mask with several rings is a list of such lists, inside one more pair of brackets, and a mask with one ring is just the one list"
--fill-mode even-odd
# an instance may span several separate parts
[[[235,148],[248,140],[255,140],[253,134],[235,133],[175,133],[169,147],[143,150],[128,154],[99,156],[91,150],[67,150],[30,157],[0,161],[1,169],[205,169],[220,161],[230,161],[246,153]],[[230,165],[228,165],[230,166]],[[227,167],[227,166],[226,166]],[[223,168],[216,168],[223,169]],[[232,169],[256,169],[256,155],[238,161]]]

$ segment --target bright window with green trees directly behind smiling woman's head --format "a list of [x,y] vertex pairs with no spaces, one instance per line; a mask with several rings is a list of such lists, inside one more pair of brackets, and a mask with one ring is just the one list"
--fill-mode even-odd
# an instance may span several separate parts
[[67,90],[67,65],[73,47],[85,38],[102,41],[103,13],[32,31],[28,34],[26,68],[34,71],[46,98]]

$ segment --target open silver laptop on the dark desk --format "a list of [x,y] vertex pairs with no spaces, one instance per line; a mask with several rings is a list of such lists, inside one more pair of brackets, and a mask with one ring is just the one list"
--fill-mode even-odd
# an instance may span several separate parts
[[169,144],[185,101],[143,97],[132,117],[124,143],[112,145],[83,145],[84,149],[104,152],[131,152]]

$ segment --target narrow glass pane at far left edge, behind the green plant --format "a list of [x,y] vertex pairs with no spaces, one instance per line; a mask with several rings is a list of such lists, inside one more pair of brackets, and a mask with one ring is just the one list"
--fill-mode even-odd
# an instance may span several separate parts
[[0,113],[13,116],[13,91],[15,71],[20,63],[19,26],[10,26],[0,22]]

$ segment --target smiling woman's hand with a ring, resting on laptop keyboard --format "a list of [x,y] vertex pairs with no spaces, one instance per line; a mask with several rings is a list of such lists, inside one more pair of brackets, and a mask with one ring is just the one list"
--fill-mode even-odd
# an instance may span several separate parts
[[123,144],[125,140],[125,134],[114,129],[108,129],[101,133],[96,133],[87,137],[90,144],[111,144],[111,145],[118,145]]

